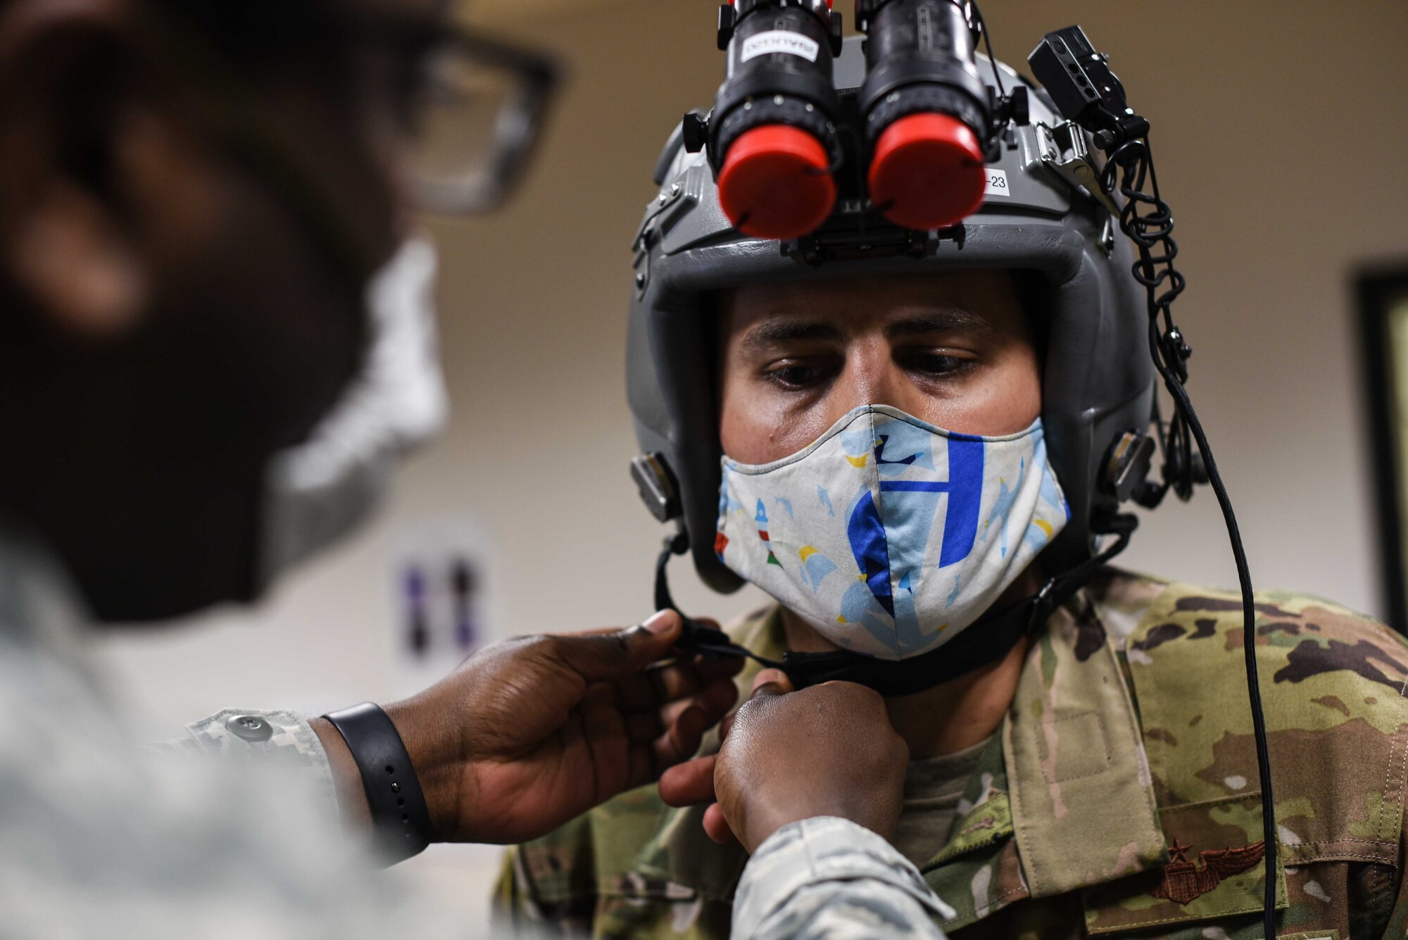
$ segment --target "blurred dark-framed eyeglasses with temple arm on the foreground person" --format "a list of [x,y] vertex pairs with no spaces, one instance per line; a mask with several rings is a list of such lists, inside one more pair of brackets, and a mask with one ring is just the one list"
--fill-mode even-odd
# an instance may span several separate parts
[[[282,32],[255,34],[268,45],[321,45],[341,35],[393,48],[403,186],[422,208],[445,215],[487,211],[522,179],[558,84],[552,59],[438,21],[353,17],[351,4],[320,0],[268,1],[287,14]],[[242,10],[208,8],[230,10],[237,20]],[[258,17],[246,20],[262,24]],[[183,17],[146,15],[144,23],[152,61],[166,66],[190,113],[200,114],[231,156],[262,174],[308,221],[349,283],[360,283],[379,263],[379,249],[360,243],[346,208],[325,191],[297,135],[228,66],[208,31]]]

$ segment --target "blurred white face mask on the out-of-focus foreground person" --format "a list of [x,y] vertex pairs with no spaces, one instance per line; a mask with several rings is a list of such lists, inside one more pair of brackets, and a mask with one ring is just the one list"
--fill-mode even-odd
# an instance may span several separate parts
[[362,370],[306,442],[270,460],[260,509],[260,587],[352,529],[379,501],[401,457],[445,424],[435,267],[435,246],[413,238],[372,277]]

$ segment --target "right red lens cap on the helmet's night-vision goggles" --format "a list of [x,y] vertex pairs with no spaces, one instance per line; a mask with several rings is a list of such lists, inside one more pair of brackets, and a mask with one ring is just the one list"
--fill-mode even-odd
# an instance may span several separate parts
[[948,114],[907,114],[880,134],[870,158],[870,201],[897,225],[957,225],[983,204],[987,167],[973,129]]

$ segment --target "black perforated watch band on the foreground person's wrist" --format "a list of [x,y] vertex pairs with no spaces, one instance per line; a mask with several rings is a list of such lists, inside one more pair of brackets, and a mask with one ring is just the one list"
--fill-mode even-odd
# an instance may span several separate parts
[[410,858],[431,841],[431,813],[396,725],[379,705],[362,702],[324,715],[352,751],[372,808],[379,853],[389,865]]

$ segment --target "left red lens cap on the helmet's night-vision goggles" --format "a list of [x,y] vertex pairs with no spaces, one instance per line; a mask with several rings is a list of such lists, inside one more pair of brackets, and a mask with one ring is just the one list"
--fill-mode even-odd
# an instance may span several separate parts
[[724,158],[718,203],[753,238],[798,238],[831,215],[836,183],[821,142],[786,124],[745,131]]

